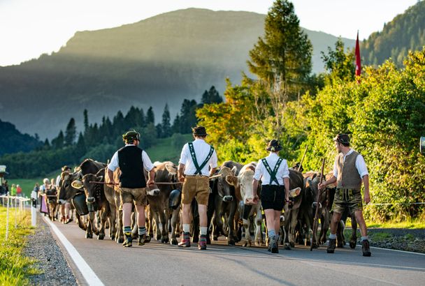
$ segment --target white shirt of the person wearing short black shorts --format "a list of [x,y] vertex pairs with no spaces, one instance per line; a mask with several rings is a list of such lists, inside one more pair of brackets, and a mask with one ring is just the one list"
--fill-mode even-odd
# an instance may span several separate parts
[[[275,169],[276,163],[278,163],[279,156],[276,153],[270,153],[266,158],[268,165],[271,170]],[[259,181],[261,179],[261,185],[270,185],[270,174],[268,174],[266,167],[264,167],[263,160],[259,160],[257,167],[255,168],[254,179]],[[276,173],[276,179],[278,179],[279,185],[284,186],[283,178],[289,178],[289,168],[287,160],[282,159],[280,163],[278,172]],[[275,181],[271,183],[272,185],[277,185]]]

